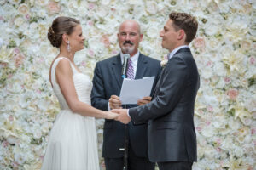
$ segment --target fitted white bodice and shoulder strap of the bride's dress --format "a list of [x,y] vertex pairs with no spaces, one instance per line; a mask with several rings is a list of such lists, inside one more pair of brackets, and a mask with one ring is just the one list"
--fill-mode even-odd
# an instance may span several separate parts
[[[60,57],[58,59],[55,59],[53,65],[52,65],[52,68],[51,68],[51,77],[50,78],[51,78],[51,82],[53,85],[53,90],[55,92],[55,95],[57,96],[57,99],[59,100],[59,103],[61,105],[61,109],[67,110],[69,108],[68,108],[66,99],[64,98],[63,94],[61,93],[61,88],[59,87],[59,84],[56,82],[56,78],[55,78],[55,69],[61,59],[67,59],[67,58]],[[68,61],[71,65],[71,68],[73,71],[73,82],[74,82],[74,86],[75,86],[76,92],[78,94],[79,100],[90,105],[90,92],[91,92],[91,88],[92,88],[92,82],[90,81],[90,77],[77,71],[69,59],[68,59]]]

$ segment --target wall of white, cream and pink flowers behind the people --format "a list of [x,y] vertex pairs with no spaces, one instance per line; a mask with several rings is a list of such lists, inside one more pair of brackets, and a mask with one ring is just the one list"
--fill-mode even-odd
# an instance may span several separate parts
[[[55,17],[81,21],[85,48],[75,61],[92,77],[97,61],[119,53],[116,34],[123,20],[138,20],[141,52],[163,59],[167,51],[159,32],[171,11],[194,14],[199,21],[190,44],[201,75],[193,169],[255,169],[255,1],[1,0],[0,5],[0,169],[41,167],[60,111],[49,83],[58,50],[49,44],[47,31]],[[97,120],[100,156],[102,123]]]

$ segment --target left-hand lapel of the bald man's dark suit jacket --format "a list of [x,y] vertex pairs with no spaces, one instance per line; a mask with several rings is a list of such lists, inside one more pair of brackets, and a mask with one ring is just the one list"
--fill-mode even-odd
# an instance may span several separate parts
[[121,75],[122,72],[122,64],[121,64],[121,57],[120,54],[116,56],[116,59],[113,60],[112,62],[112,71],[113,75],[116,78],[119,87],[122,86],[123,78]]

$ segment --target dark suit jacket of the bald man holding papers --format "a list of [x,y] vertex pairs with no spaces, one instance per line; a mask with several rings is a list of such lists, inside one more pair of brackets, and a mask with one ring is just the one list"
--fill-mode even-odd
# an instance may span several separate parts
[[[155,77],[153,89],[158,77],[160,77],[160,61],[139,55],[137,61],[136,79],[143,77]],[[108,111],[108,99],[111,95],[119,96],[123,78],[121,77],[122,63],[120,55],[102,60],[96,64],[93,88],[91,92],[91,105]],[[131,89],[133,90],[133,89]],[[153,94],[153,91],[151,94]],[[131,108],[137,105],[123,105],[123,108]],[[147,123],[147,122],[146,122]],[[128,125],[129,139],[132,150],[138,157],[148,157],[147,149],[147,124],[134,126]],[[124,151],[119,148],[125,146],[125,125],[114,121],[105,120],[103,131],[102,156],[107,158],[119,158],[124,156]]]

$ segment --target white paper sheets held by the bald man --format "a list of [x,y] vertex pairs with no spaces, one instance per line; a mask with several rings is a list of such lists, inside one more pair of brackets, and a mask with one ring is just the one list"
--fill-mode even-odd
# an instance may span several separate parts
[[143,77],[131,80],[125,78],[121,88],[119,99],[123,105],[137,104],[138,99],[149,96],[154,83],[154,77]]

